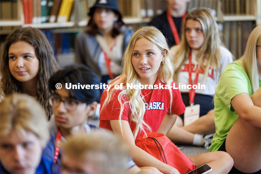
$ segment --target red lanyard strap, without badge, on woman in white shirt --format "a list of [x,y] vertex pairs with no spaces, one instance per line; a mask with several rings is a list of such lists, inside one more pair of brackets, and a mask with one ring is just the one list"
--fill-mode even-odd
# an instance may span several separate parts
[[[202,62],[203,61],[204,61],[204,57],[203,57]],[[192,50],[190,50],[190,53],[189,53],[189,84],[191,85],[191,89],[189,90],[189,103],[193,105],[194,104],[194,98],[195,98],[195,89],[193,89],[192,86],[197,84],[198,75],[200,73],[200,67],[197,69],[195,80],[194,80],[194,83],[192,84],[192,78],[191,78],[192,68],[191,68],[191,66],[192,66]]]

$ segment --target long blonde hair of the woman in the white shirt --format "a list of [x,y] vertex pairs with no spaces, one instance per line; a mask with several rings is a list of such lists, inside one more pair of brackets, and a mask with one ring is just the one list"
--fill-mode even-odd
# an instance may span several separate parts
[[[177,49],[175,49],[177,52],[174,56],[175,59],[173,59],[176,64],[175,74],[179,73],[180,68],[189,58],[189,52],[191,48],[186,40],[185,35],[186,22],[188,19],[199,21],[203,29],[205,40],[196,55],[196,60],[201,65],[203,56],[205,57],[204,59],[207,61],[207,64],[202,68],[204,68],[204,79],[206,79],[208,75],[208,71],[206,70],[208,70],[209,67],[213,68],[214,70],[218,70],[219,72],[221,71],[221,56],[219,46],[223,46],[218,32],[218,24],[216,23],[211,12],[206,8],[197,8],[192,10],[187,14],[183,22],[181,42],[179,45],[175,46],[177,47]],[[176,78],[177,76],[175,77],[175,80],[177,80]]]

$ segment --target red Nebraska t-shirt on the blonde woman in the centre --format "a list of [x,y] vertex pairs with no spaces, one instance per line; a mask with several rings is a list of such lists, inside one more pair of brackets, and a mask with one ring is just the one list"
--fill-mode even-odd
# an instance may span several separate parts
[[[156,80],[155,84],[159,84],[158,80]],[[163,83],[161,83],[163,84]],[[172,82],[172,86],[175,85],[177,88],[177,85]],[[182,101],[180,90],[179,89],[172,89],[172,105],[171,105],[171,113],[176,115],[181,115],[185,111],[185,105]],[[168,113],[168,110],[170,110],[170,93],[168,89],[153,89],[151,92],[151,89],[142,89],[142,95],[146,95],[144,97],[145,101],[145,114],[144,114],[144,121],[151,126],[152,132],[157,132],[157,130],[160,127],[160,124],[162,123],[162,120],[166,113]],[[120,104],[118,101],[118,95],[121,92],[121,90],[116,90],[115,93],[112,95],[111,100],[107,104],[105,108],[103,108],[100,111],[100,128],[109,129],[112,131],[112,128],[110,126],[110,120],[118,120],[119,114],[120,114]],[[150,93],[151,92],[151,93]],[[104,99],[106,96],[106,90],[104,90],[104,93],[101,97],[101,108],[104,103]],[[148,95],[147,95],[148,94]],[[123,99],[121,100],[122,103],[128,101],[126,95],[123,96]],[[122,113],[122,120],[126,120],[129,122],[132,132],[135,130],[136,124],[135,122],[130,120],[131,116],[131,109],[129,108],[128,104],[124,105],[124,110]],[[146,130],[146,132],[149,132],[149,130]],[[143,131],[139,131],[138,136],[143,135]]]

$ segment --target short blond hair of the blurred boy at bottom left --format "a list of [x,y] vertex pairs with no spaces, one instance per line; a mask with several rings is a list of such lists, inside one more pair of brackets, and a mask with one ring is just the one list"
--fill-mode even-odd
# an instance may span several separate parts
[[25,134],[34,133],[44,147],[50,138],[46,113],[41,105],[26,94],[13,93],[0,103],[0,136],[12,130]]

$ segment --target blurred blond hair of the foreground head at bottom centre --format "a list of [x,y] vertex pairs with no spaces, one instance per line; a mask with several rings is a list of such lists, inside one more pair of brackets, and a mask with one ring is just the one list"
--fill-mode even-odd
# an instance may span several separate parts
[[128,146],[108,131],[69,136],[61,143],[63,155],[93,165],[97,173],[124,173],[130,159]]

